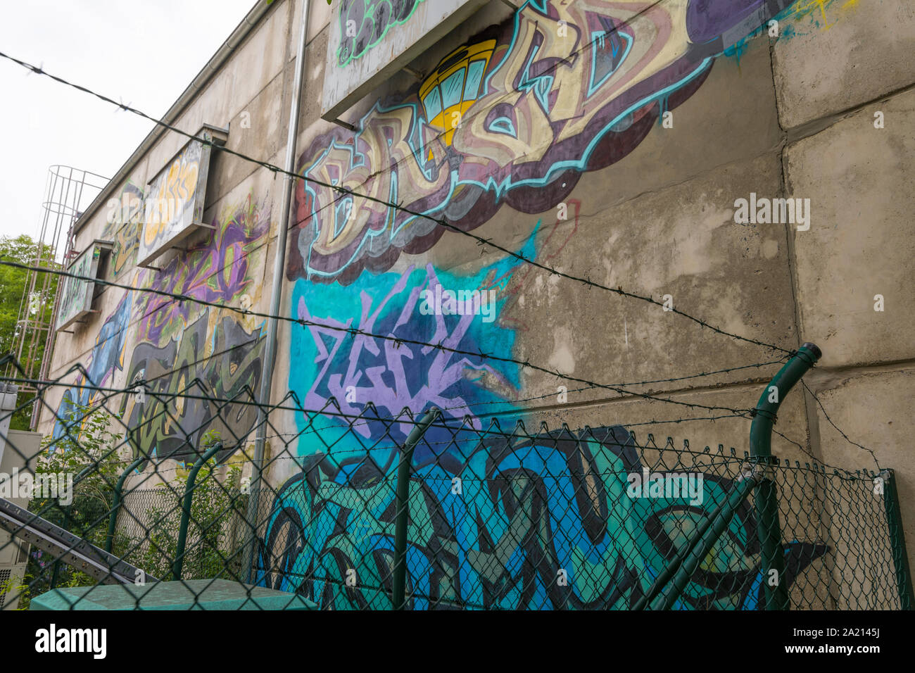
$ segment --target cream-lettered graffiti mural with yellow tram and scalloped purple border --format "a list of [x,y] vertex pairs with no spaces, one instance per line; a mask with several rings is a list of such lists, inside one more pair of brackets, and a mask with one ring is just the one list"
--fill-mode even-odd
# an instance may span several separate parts
[[[791,4],[531,0],[413,91],[375,103],[355,134],[335,129],[312,143],[299,169],[329,187],[297,187],[289,277],[348,285],[445,231],[385,202],[463,230],[503,204],[554,208],[583,172],[627,156],[696,92],[717,55]],[[341,197],[340,187],[369,198]]]

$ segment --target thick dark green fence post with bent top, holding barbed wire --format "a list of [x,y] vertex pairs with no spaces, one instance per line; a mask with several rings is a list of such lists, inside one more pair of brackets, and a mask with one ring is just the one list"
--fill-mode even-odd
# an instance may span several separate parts
[[[766,466],[766,472],[756,492],[756,516],[761,552],[762,581],[766,595],[766,610],[788,610],[788,587],[784,582],[785,558],[781,550],[781,524],[779,501],[775,482],[770,478],[772,457],[772,426],[782,400],[803,374],[823,356],[813,343],[804,343],[798,352],[766,386],[759,397],[749,429],[749,452],[752,460]],[[775,575],[770,573],[775,570]],[[770,584],[774,581],[774,586]]]

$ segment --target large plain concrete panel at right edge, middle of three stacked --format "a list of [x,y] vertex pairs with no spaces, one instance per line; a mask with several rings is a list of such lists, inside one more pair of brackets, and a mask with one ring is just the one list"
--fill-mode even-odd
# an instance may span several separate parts
[[[874,127],[874,113],[886,128]],[[802,334],[824,366],[915,357],[915,92],[806,138],[785,152],[790,196],[811,200],[795,231]],[[885,310],[874,310],[883,295]]]

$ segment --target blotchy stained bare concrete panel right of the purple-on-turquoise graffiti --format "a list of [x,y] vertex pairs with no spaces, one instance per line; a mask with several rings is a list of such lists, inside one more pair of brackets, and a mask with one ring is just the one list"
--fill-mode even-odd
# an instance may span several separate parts
[[[659,301],[671,295],[675,309],[711,325],[791,348],[796,336],[784,228],[734,222],[737,198],[751,191],[775,194],[779,189],[779,161],[772,154],[718,168],[593,215],[587,213],[594,212],[596,200],[589,199],[587,205],[570,201],[567,222],[544,218],[538,260],[572,276]],[[483,229],[480,235],[492,235],[505,247],[519,245],[507,243],[506,235],[497,233],[498,225]],[[520,233],[517,220],[513,229]],[[445,255],[459,254],[450,244],[439,246],[434,254],[443,248]],[[778,359],[768,349],[717,335],[661,306],[588,290],[537,268],[520,268],[507,289],[514,297],[501,320],[539,335],[522,338],[514,357],[589,381],[666,379],[673,372],[700,374]],[[718,385],[759,375],[758,370],[741,370],[651,387]],[[560,384],[579,387],[533,371],[522,374],[522,384],[525,396]],[[576,394],[576,399],[608,395],[612,393],[597,390]]]

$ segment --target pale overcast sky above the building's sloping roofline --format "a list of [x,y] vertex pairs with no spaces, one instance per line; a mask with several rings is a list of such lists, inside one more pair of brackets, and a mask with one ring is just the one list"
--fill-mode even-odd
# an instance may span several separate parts
[[[3,0],[0,51],[158,118],[253,5]],[[110,178],[152,127],[5,59],[0,92],[0,235],[38,235],[48,167],[63,164]]]

